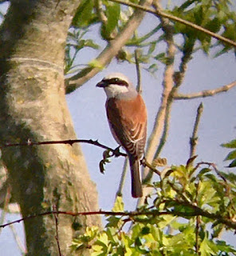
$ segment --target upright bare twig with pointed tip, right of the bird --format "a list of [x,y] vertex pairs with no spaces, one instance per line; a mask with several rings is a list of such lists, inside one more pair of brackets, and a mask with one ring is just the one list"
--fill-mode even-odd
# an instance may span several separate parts
[[198,144],[199,122],[200,122],[202,113],[203,113],[203,102],[199,105],[198,110],[197,110],[195,125],[194,125],[192,136],[190,138],[190,156],[189,156],[189,158],[193,158],[196,154],[196,146]]

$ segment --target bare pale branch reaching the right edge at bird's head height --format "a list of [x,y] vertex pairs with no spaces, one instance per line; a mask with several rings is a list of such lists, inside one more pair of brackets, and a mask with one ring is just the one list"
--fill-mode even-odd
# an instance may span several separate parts
[[232,89],[234,86],[236,86],[236,81],[230,82],[226,86],[221,86],[213,90],[202,90],[199,93],[194,93],[194,94],[175,94],[174,98],[176,100],[179,99],[192,99],[192,98],[205,98],[205,97],[210,97],[214,96],[215,94],[220,94],[222,92],[226,92],[230,89]]

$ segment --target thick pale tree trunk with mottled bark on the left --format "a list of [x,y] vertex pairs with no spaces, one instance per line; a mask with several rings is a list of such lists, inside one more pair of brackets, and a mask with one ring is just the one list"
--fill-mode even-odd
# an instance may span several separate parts
[[[65,38],[79,0],[14,0],[0,33],[0,134],[6,142],[74,139],[65,102]],[[81,124],[83,125],[83,124]],[[97,210],[97,194],[78,145],[2,149],[22,216],[52,210]],[[78,225],[73,225],[76,222]],[[75,232],[100,218],[59,215],[61,252]],[[73,230],[79,226],[79,230]],[[58,255],[53,216],[25,222],[28,255]],[[88,254],[84,251],[83,255]]]

